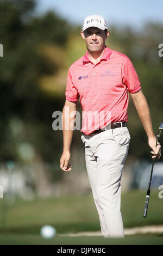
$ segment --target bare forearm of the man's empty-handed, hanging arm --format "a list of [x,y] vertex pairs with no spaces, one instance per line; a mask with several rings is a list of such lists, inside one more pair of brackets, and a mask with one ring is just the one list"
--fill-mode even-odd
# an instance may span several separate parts
[[72,136],[73,136],[73,124],[76,114],[69,107],[64,107],[62,112],[62,128],[63,128],[63,151],[69,151]]

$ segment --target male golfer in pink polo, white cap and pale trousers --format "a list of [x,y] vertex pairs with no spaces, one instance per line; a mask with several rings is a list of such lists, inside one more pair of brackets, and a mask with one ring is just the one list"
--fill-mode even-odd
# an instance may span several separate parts
[[[68,70],[60,167],[64,171],[72,169],[68,161],[73,127],[66,130],[65,125],[74,120],[80,96],[83,108],[81,139],[102,234],[104,237],[123,237],[120,182],[130,143],[126,125],[128,92],[147,133],[153,158],[160,159],[161,145],[158,143],[155,147],[151,115],[133,64],[126,55],[105,46],[109,31],[103,17],[86,17],[81,35],[87,52]],[[66,107],[68,115],[65,114]]]

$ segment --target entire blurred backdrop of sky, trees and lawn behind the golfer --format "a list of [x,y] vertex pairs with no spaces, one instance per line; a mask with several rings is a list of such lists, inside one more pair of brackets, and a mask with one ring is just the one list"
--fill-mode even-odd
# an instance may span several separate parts
[[[0,0],[1,232],[37,233],[47,223],[63,233],[99,229],[80,131],[73,133],[72,171],[62,172],[62,131],[52,129],[52,114],[64,107],[68,68],[86,52],[80,37],[83,21],[99,14],[110,31],[106,45],[126,54],[134,64],[151,110],[153,130],[159,134],[163,123],[163,57],[158,54],[163,43],[162,8],[162,1]],[[79,102],[77,108],[82,115]],[[149,213],[148,220],[143,220],[152,158],[130,95],[128,119],[131,140],[122,175],[124,225],[160,224],[162,156],[155,163],[152,181],[157,206],[153,204],[151,217]],[[163,145],[163,134],[160,143]],[[135,208],[129,206],[133,198],[137,198]],[[160,211],[153,218],[155,207]]]

